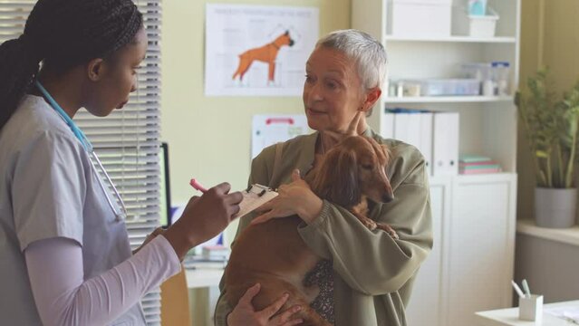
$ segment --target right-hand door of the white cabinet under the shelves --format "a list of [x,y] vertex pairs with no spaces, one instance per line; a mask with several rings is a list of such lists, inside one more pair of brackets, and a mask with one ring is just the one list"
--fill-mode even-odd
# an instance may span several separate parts
[[474,312],[511,306],[516,176],[458,177],[452,192],[444,324],[472,325]]

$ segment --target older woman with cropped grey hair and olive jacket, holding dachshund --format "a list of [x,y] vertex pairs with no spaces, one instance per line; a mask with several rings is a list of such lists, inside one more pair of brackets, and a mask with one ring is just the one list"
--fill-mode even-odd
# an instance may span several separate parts
[[[386,75],[386,53],[372,36],[355,31],[336,31],[323,37],[306,63],[304,109],[311,135],[285,142],[279,168],[272,176],[275,146],[264,149],[253,161],[249,183],[279,187],[279,197],[267,205],[268,218],[300,216],[298,232],[324,260],[314,275],[321,294],[312,307],[324,319],[339,326],[406,325],[404,307],[410,300],[412,283],[432,246],[428,174],[424,158],[414,147],[393,139],[382,139],[366,125],[366,115],[381,96]],[[372,203],[369,216],[392,225],[400,239],[381,230],[354,227],[361,222],[350,212],[314,192],[300,178],[315,167],[323,153],[332,148],[336,134],[346,134],[352,120],[357,131],[376,139],[391,150],[386,172],[394,199],[388,204]],[[262,209],[263,210],[263,209]],[[261,212],[263,213],[263,212]],[[246,216],[237,234],[257,213]],[[352,227],[350,226],[352,225]],[[352,243],[352,239],[356,239]],[[251,299],[259,284],[247,290],[236,307],[228,307],[222,295],[217,302],[216,324],[229,326],[294,325],[300,307],[278,312],[287,300],[282,297],[256,312]]]

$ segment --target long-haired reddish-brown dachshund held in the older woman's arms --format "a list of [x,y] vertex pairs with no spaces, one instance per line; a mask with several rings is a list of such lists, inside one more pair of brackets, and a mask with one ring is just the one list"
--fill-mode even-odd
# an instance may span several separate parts
[[[392,199],[385,173],[388,161],[388,149],[376,140],[349,136],[323,156],[305,181],[318,197],[350,210],[369,229],[379,228],[398,238],[390,225],[367,217],[367,198],[382,203]],[[236,238],[225,272],[226,299],[231,306],[236,306],[249,287],[261,283],[261,291],[253,300],[256,310],[263,310],[288,292],[290,299],[280,311],[299,304],[303,309],[295,318],[303,318],[304,325],[329,325],[309,306],[319,288],[306,287],[304,278],[321,258],[298,234],[301,222],[298,216],[274,218],[247,226]]]

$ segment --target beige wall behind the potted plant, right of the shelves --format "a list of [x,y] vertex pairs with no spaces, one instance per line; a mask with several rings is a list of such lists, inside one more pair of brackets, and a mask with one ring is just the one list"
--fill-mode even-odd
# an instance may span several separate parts
[[[520,83],[547,65],[556,91],[568,90],[579,79],[579,1],[522,0]],[[525,130],[519,124],[517,171],[518,216],[533,217],[535,181]]]

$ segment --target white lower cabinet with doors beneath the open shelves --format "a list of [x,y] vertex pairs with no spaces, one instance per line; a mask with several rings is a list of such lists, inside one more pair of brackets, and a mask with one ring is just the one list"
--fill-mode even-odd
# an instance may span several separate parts
[[432,177],[434,246],[406,310],[409,326],[473,325],[510,307],[516,175]]

